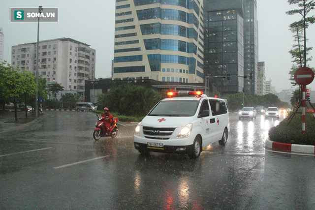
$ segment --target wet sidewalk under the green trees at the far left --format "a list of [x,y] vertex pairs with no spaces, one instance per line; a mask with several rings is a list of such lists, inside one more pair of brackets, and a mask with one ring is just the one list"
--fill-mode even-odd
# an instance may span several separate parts
[[17,111],[18,121],[15,121],[15,113],[13,110],[0,110],[0,133],[9,132],[21,126],[26,126],[29,122],[35,120],[35,113],[28,113],[27,118],[25,112]]

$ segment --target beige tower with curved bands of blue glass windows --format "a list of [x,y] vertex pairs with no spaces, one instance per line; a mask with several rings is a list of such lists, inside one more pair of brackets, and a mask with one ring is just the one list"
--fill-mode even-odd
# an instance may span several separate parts
[[116,0],[114,80],[203,82],[203,0]]

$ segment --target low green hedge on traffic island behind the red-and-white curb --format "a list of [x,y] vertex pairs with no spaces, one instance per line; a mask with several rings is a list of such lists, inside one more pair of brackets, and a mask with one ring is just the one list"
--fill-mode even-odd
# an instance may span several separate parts
[[298,144],[298,145],[314,145],[315,146],[315,119],[312,115],[306,115],[306,133],[302,133],[302,115],[296,114],[290,124],[288,119],[284,119],[276,127],[269,130],[270,141]]

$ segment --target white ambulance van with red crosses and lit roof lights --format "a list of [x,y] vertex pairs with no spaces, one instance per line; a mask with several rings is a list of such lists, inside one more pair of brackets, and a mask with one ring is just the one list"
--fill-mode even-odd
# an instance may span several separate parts
[[[198,158],[203,147],[219,141],[225,145],[229,114],[224,99],[207,97],[202,91],[168,92],[137,125],[133,138],[142,154],[154,152],[188,153]],[[194,97],[173,97],[176,95]]]

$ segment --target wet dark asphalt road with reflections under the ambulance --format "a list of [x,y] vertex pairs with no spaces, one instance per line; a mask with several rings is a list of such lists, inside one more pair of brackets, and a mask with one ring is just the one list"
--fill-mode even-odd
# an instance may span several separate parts
[[[280,120],[282,120],[281,117]],[[265,150],[279,120],[230,114],[201,156],[133,148],[135,124],[94,141],[89,112],[46,112],[0,134],[0,209],[315,210],[315,157]]]

